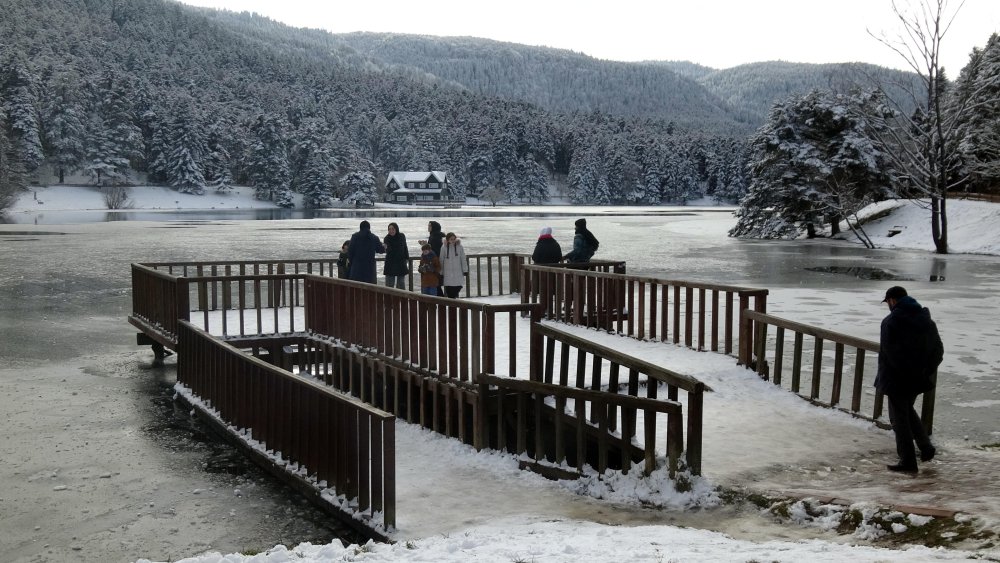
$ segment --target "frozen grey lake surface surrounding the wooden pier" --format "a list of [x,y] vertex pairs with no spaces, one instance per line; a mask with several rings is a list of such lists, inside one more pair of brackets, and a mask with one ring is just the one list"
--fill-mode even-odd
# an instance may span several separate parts
[[[945,340],[935,439],[952,447],[1000,442],[1000,258],[823,240],[732,240],[725,236],[732,218],[721,210],[541,211],[548,216],[448,212],[370,220],[376,233],[389,221],[399,223],[414,252],[427,220],[438,220],[476,253],[530,252],[543,226],[553,227],[565,251],[574,219],[587,216],[601,240],[596,257],[625,260],[630,273],[765,287],[772,314],[870,339],[877,339],[886,314],[885,288],[904,285],[931,309]],[[0,437],[0,543],[12,542],[15,555],[53,559],[63,550],[72,554],[74,542],[86,536],[114,559],[176,559],[209,547],[328,537],[324,519],[294,495],[251,470],[230,474],[238,460],[214,459],[212,446],[191,442],[188,429],[164,427],[173,408],[172,365],[152,366],[148,348],[134,344],[135,329],[126,322],[129,264],[333,256],[360,216],[151,215],[0,225],[0,412],[9,419]],[[859,268],[889,279],[857,277]],[[101,486],[108,479],[120,491],[111,498]],[[71,497],[60,489],[66,480],[90,486]],[[234,489],[241,502],[267,508],[236,512]],[[23,498],[38,502],[12,506]],[[68,498],[74,501],[66,504]],[[228,522],[225,529],[220,520]],[[136,551],[137,545],[150,549]],[[100,552],[94,549],[89,552]]]

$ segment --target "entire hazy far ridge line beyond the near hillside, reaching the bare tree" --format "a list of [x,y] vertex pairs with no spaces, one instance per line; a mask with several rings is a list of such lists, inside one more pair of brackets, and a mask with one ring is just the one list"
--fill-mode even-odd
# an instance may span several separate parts
[[427,73],[476,93],[561,113],[656,117],[713,131],[747,132],[789,96],[814,88],[872,88],[876,79],[906,107],[904,91],[895,85],[917,78],[866,63],[767,61],[719,70],[690,61],[607,61],[474,37],[358,32],[333,38],[392,68]]

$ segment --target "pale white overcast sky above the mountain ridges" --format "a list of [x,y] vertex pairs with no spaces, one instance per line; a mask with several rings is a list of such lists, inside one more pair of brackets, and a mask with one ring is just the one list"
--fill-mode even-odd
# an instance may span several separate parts
[[[505,0],[496,8],[475,0],[182,1],[333,33],[484,37],[620,61],[688,60],[713,68],[863,61],[909,70],[866,31],[892,37],[902,31],[890,0]],[[948,13],[961,4],[945,1]],[[966,0],[942,43],[948,76],[957,77],[972,48],[998,29],[1000,0]]]

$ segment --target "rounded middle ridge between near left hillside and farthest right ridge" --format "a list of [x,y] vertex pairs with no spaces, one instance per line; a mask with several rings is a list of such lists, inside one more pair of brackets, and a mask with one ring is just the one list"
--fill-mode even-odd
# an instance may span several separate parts
[[603,61],[573,51],[475,37],[334,37],[397,68],[419,69],[479,94],[524,100],[555,112],[662,118],[711,133],[752,129],[697,82],[661,65]]

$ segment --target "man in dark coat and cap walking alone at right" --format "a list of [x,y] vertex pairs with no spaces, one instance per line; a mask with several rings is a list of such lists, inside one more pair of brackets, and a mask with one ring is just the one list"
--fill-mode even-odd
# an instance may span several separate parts
[[889,314],[882,320],[875,388],[889,402],[889,423],[899,454],[899,461],[886,467],[915,473],[917,453],[913,443],[920,448],[921,461],[934,459],[937,450],[913,404],[917,395],[934,387],[944,346],[930,311],[907,295],[905,289],[890,287],[882,302],[889,305]]

